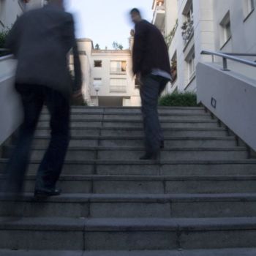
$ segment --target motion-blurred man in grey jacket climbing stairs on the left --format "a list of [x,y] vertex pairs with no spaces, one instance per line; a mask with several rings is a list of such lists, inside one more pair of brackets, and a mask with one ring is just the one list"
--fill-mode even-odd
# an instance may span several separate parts
[[[7,39],[18,59],[15,89],[23,105],[23,124],[17,146],[7,165],[5,192],[17,196],[29,164],[29,151],[43,105],[50,113],[51,139],[37,172],[34,195],[60,195],[56,188],[69,145],[69,100],[80,96],[81,70],[74,20],[63,0],[50,0],[18,18]],[[75,83],[69,75],[67,54],[73,49]]]

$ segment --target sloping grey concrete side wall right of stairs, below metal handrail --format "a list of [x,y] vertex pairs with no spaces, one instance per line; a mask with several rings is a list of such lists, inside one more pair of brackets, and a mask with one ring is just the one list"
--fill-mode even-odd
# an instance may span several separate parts
[[[197,97],[249,146],[256,150],[256,80],[224,72],[213,64],[197,64]],[[216,108],[211,99],[216,99]]]

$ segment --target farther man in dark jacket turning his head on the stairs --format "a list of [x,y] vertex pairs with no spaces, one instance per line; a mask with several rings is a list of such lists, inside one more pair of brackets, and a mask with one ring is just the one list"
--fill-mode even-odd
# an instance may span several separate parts
[[133,9],[130,14],[135,23],[133,73],[140,83],[146,143],[146,154],[140,159],[157,159],[160,148],[164,147],[157,103],[159,95],[171,80],[170,60],[165,39],[159,29],[143,20],[138,9]]

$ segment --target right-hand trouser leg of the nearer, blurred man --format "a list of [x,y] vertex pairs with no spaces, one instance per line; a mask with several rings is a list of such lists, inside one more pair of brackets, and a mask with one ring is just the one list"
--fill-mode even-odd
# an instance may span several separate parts
[[69,100],[58,91],[45,89],[50,113],[51,138],[37,173],[36,189],[55,189],[69,146]]

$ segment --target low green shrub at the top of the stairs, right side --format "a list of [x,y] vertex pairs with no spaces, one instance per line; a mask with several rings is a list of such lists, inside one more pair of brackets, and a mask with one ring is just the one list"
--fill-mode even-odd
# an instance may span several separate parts
[[197,107],[197,94],[192,92],[174,92],[159,98],[159,106],[164,107]]

